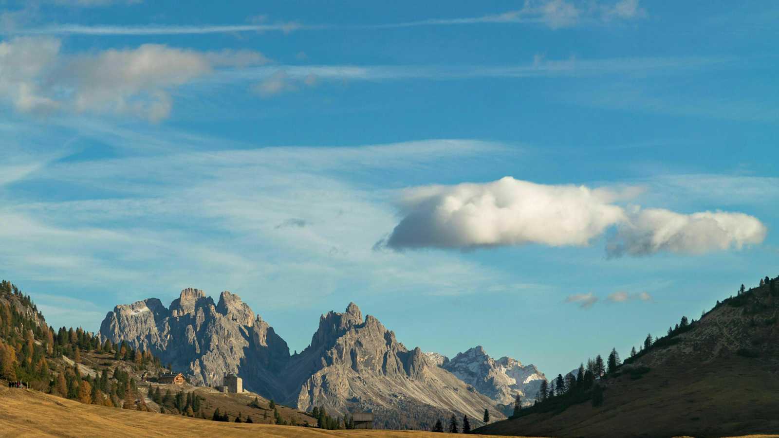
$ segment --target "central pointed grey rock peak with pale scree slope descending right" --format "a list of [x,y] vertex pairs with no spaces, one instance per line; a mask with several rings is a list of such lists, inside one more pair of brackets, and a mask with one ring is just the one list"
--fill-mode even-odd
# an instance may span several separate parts
[[453,412],[481,424],[485,408],[503,418],[487,397],[435,366],[419,348],[407,349],[375,317],[362,320],[354,303],[345,313],[320,318],[311,345],[293,356],[286,373],[290,389],[297,390],[287,403],[325,407],[332,415],[372,411],[381,427],[429,428]]

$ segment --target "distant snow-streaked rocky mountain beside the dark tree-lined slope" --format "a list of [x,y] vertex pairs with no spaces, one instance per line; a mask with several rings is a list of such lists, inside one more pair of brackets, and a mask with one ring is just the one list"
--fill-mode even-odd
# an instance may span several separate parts
[[497,404],[512,404],[516,394],[520,394],[523,404],[532,404],[541,381],[546,380],[534,365],[523,366],[509,357],[492,359],[481,345],[458,353],[451,360],[438,353],[428,353],[428,358],[440,362],[443,369]]

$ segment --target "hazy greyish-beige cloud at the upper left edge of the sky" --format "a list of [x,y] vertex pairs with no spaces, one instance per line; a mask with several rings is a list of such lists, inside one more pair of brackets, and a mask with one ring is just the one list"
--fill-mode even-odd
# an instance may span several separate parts
[[218,67],[259,65],[256,51],[203,52],[143,44],[62,55],[60,41],[17,37],[0,42],[0,98],[18,111],[132,114],[158,121],[171,111],[171,89]]

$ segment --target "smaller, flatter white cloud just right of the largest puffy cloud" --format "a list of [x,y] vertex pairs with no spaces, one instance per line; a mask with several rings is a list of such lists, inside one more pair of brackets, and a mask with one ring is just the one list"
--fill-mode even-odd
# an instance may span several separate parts
[[742,249],[763,242],[766,226],[742,213],[704,211],[679,214],[669,210],[633,210],[631,221],[609,242],[610,256],[644,256],[661,251],[702,254]]

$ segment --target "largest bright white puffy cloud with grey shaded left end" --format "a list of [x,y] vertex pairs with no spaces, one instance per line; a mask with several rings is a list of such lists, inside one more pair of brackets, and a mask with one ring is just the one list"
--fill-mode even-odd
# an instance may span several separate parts
[[485,184],[411,189],[392,248],[492,245],[587,245],[625,220],[616,194],[576,185],[541,185],[511,177]]

